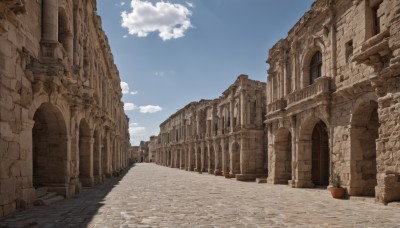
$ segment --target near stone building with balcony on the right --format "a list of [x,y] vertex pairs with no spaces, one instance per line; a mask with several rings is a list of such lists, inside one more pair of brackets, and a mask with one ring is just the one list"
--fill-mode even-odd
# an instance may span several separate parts
[[400,1],[316,0],[267,62],[268,182],[400,200]]

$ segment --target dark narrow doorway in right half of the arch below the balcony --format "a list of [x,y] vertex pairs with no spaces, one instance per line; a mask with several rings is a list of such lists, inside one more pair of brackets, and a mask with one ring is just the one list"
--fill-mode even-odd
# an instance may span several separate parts
[[321,120],[312,132],[311,180],[317,186],[329,184],[329,136]]

